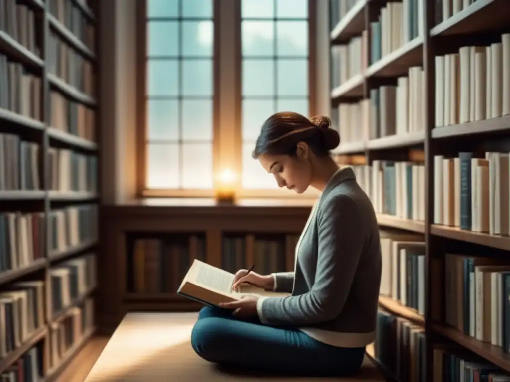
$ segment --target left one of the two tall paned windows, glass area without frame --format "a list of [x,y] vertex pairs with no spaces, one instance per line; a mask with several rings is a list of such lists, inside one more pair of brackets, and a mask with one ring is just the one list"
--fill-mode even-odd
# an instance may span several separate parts
[[145,188],[212,188],[213,0],[146,0]]

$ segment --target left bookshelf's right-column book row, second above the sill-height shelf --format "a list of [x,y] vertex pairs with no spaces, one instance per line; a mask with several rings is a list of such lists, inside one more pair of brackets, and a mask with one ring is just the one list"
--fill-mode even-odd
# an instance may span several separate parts
[[95,141],[95,113],[94,111],[62,93],[50,92],[50,126],[89,141]]

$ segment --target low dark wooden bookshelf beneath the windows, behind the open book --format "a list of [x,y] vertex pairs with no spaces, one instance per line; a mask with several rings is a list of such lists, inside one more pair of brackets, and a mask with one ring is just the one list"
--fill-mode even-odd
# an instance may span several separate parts
[[194,259],[236,271],[252,264],[263,273],[294,269],[295,245],[312,204],[145,199],[104,206],[101,235],[110,239],[101,244],[109,256],[101,258],[98,280],[109,282],[96,297],[97,325],[110,333],[129,312],[198,311],[200,304],[175,293]]

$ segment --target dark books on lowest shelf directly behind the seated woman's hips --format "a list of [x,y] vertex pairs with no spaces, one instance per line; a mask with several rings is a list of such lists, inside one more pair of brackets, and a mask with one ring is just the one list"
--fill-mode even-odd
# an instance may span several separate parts
[[425,377],[427,365],[424,328],[381,309],[377,311],[374,357],[398,378],[397,380],[442,380],[427,380]]

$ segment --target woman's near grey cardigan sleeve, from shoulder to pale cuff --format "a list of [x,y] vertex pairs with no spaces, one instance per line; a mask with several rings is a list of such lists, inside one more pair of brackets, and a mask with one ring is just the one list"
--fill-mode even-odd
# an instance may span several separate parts
[[364,247],[363,219],[347,195],[330,200],[317,219],[314,285],[298,296],[260,298],[257,312],[263,323],[312,325],[334,319],[342,311]]

